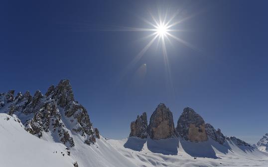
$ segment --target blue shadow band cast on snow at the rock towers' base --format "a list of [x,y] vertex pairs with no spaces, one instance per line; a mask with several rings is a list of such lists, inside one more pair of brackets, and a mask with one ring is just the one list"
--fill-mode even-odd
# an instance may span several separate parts
[[[184,152],[192,157],[199,158],[212,158],[220,159],[216,156],[215,149],[223,154],[227,154],[229,151],[232,151],[232,148],[229,144],[235,145],[234,143],[225,142],[223,145],[209,139],[206,142],[190,142],[185,141],[181,138],[170,138],[164,140],[152,140],[148,139],[139,139],[136,137],[128,138],[128,141],[124,144],[125,148],[141,151],[144,144],[147,144],[147,148],[152,153],[159,153],[163,155],[178,155],[179,147],[181,147]],[[246,151],[253,152],[254,148],[246,146],[238,146],[239,149],[247,153]]]

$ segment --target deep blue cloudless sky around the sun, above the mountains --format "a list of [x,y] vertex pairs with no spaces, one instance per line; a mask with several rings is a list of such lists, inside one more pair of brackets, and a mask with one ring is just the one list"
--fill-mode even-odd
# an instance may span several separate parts
[[[71,81],[103,136],[122,139],[138,114],[158,103],[173,112],[175,126],[186,106],[228,136],[255,143],[268,132],[267,1],[62,0],[0,2],[0,92],[43,94],[60,79]],[[148,32],[111,31],[148,27],[148,9],[183,12],[167,54],[173,89],[156,42],[137,63]],[[175,19],[175,20],[176,20]],[[142,66],[146,64],[146,66]],[[149,118],[148,118],[149,120]]]

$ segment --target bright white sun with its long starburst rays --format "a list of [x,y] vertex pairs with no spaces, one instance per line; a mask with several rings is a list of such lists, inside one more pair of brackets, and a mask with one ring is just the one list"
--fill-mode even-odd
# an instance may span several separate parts
[[160,9],[158,8],[158,10],[157,10],[158,16],[154,16],[152,14],[152,12],[150,12],[148,10],[152,21],[148,21],[147,19],[142,18],[142,17],[140,17],[140,18],[142,21],[144,21],[145,23],[150,25],[151,28],[121,27],[121,29],[123,31],[148,31],[148,32],[152,32],[152,33],[142,37],[140,40],[145,40],[145,39],[148,39],[151,37],[152,37],[152,39],[142,48],[142,50],[127,65],[126,69],[123,71],[123,73],[121,75],[120,80],[127,74],[127,72],[130,69],[134,68],[134,65],[141,59],[141,57],[145,54],[145,52],[148,50],[148,48],[154,43],[154,41],[156,41],[156,48],[158,48],[158,46],[160,46],[161,50],[162,50],[163,59],[164,59],[163,62],[164,62],[164,66],[165,66],[165,70],[166,70],[166,77],[167,77],[166,81],[168,82],[167,86],[168,86],[169,91],[170,91],[169,93],[171,93],[170,95],[172,95],[174,88],[173,88],[173,81],[172,81],[170,65],[169,65],[169,61],[168,61],[166,42],[168,42],[170,45],[172,45],[172,42],[170,39],[175,39],[176,41],[184,44],[187,47],[198,50],[192,44],[190,44],[190,43],[184,41],[183,39],[172,34],[172,32],[189,31],[189,30],[185,30],[185,29],[177,29],[176,28],[176,25],[178,25],[181,22],[188,20],[194,16],[194,14],[193,14],[193,15],[184,17],[178,21],[174,21],[175,17],[177,15],[179,15],[182,11],[184,11],[184,9],[180,9],[180,10],[178,9],[175,13],[173,13],[173,15],[171,15],[170,18],[168,18],[168,10],[161,13]]

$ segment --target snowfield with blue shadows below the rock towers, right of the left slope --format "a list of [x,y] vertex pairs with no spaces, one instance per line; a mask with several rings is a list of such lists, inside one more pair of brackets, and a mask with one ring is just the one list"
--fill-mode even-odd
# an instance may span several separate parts
[[268,154],[232,142],[193,143],[180,138],[108,140],[137,167],[268,167]]

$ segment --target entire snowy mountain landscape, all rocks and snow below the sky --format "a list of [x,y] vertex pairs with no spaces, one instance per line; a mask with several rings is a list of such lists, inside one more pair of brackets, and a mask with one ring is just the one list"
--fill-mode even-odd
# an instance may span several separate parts
[[[131,123],[130,137],[103,138],[68,80],[43,95],[0,94],[3,167],[267,167],[268,154],[204,121],[187,107],[177,121],[160,103]],[[267,144],[267,138],[262,144]],[[260,143],[260,144],[261,144]]]

